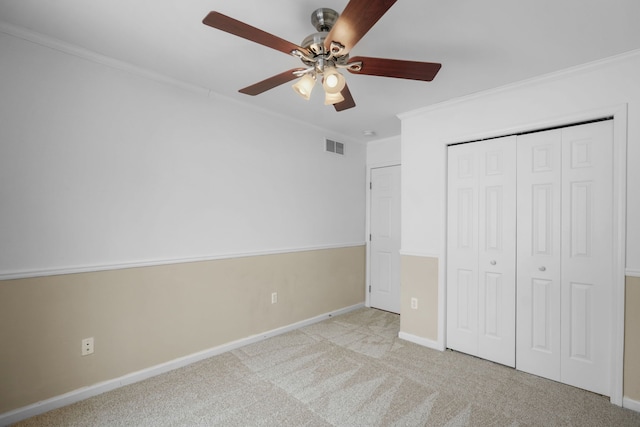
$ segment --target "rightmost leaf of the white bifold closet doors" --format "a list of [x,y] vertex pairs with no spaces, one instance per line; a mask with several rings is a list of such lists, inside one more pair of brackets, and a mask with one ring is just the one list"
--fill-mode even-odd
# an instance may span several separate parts
[[562,131],[561,381],[610,393],[613,123]]

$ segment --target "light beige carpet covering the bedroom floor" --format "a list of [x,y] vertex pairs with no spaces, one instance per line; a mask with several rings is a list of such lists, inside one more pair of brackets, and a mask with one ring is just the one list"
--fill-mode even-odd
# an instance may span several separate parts
[[360,309],[19,426],[640,426],[609,399],[398,336]]

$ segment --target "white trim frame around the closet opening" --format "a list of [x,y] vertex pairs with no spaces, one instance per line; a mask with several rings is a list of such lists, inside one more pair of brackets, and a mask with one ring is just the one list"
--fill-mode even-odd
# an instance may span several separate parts
[[[623,377],[624,377],[624,309],[625,309],[625,260],[626,260],[626,211],[627,211],[627,109],[628,105],[619,104],[598,108],[589,111],[576,112],[564,116],[550,117],[544,121],[538,121],[528,125],[514,126],[504,129],[496,129],[490,132],[465,135],[462,139],[443,141],[445,145],[453,145],[464,142],[479,141],[487,138],[516,135],[519,133],[541,131],[556,127],[571,126],[574,124],[600,120],[607,117],[613,119],[613,287],[612,319],[611,319],[611,395],[610,401],[614,405],[623,406]],[[445,150],[446,152],[447,150]],[[445,154],[446,164],[446,154]],[[445,206],[445,224],[448,222],[446,215],[447,206],[447,168],[444,174],[443,206]],[[442,296],[438,310],[438,334],[441,337],[442,349],[446,348],[446,266],[447,266],[447,227],[442,231],[442,271],[439,276],[438,293]]]

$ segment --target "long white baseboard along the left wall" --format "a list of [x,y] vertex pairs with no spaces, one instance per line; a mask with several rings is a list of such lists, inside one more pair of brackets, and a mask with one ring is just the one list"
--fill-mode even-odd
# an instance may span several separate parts
[[226,353],[231,350],[243,347],[245,345],[253,344],[259,341],[266,340],[277,335],[290,332],[304,326],[312,325],[314,323],[321,322],[334,316],[348,313],[353,310],[364,307],[364,304],[356,304],[350,307],[345,307],[340,310],[335,310],[329,313],[321,314],[319,316],[305,319],[300,322],[292,323],[291,325],[283,326],[281,328],[272,329],[258,335],[252,335],[247,338],[243,338],[237,341],[232,341],[227,344],[223,344],[217,347],[203,350],[197,353],[190,354],[188,356],[180,357],[178,359],[171,360],[169,362],[161,363],[159,365],[151,366],[149,368],[132,372],[130,374],[114,378],[111,380],[103,381],[98,384],[94,384],[88,387],[82,387],[77,390],[70,391],[69,393],[61,394],[59,396],[52,397],[51,399],[43,400],[41,402],[34,403],[32,405],[24,406],[22,408],[15,409],[10,412],[0,414],[0,426],[8,426],[18,421],[34,417],[36,415],[43,414],[45,412],[61,408],[63,406],[71,405],[72,403],[79,402],[81,400],[88,399],[93,396],[105,393],[107,391],[115,390],[120,387],[124,387],[129,384],[137,383],[139,381],[146,380],[156,375],[164,374],[174,369],[182,368],[183,366],[190,365],[200,360],[208,359],[209,357],[217,356],[222,353]]

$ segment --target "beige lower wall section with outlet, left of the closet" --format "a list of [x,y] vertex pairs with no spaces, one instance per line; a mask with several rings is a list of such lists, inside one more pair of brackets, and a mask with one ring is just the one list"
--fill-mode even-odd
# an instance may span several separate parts
[[[400,332],[438,339],[438,259],[412,255],[400,258]],[[411,298],[418,308],[411,308]]]

